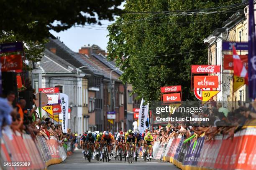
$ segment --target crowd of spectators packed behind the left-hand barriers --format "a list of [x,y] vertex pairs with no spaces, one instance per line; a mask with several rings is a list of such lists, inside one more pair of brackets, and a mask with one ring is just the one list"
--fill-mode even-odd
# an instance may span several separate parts
[[[37,107],[26,109],[26,100],[20,99],[15,103],[15,93],[8,92],[6,97],[0,97],[0,138],[2,130],[9,133],[12,129],[15,133],[31,135],[33,140],[37,141],[36,136],[43,136],[45,140],[51,140],[51,136],[58,140],[59,145],[73,151],[77,134],[62,132],[61,124],[54,125],[49,117],[45,115],[40,118],[36,112]],[[35,102],[35,97],[33,101]]]

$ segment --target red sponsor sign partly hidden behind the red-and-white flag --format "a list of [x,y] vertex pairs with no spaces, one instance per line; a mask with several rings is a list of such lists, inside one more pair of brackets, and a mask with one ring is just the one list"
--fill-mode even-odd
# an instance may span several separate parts
[[[243,65],[248,68],[248,55],[239,55]],[[224,70],[234,70],[233,55],[224,55]]]

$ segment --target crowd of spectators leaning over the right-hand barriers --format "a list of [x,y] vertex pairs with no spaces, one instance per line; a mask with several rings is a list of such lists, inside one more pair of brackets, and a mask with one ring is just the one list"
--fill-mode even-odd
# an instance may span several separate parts
[[256,101],[251,102],[248,107],[238,102],[238,108],[228,110],[221,102],[211,99],[207,103],[207,110],[193,117],[208,117],[209,121],[184,121],[170,122],[165,127],[153,130],[154,141],[167,143],[172,137],[184,135],[185,139],[195,135],[193,140],[197,140],[201,135],[205,136],[205,141],[214,140],[215,136],[228,135],[233,138],[234,134],[245,126],[256,126]]

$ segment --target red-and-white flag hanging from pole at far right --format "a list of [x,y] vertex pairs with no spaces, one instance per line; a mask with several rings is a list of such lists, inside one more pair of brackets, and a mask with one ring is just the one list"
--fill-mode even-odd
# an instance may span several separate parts
[[233,63],[234,63],[234,75],[238,77],[244,77],[245,81],[248,80],[248,74],[246,67],[243,65],[239,55],[236,53],[236,47],[233,46]]

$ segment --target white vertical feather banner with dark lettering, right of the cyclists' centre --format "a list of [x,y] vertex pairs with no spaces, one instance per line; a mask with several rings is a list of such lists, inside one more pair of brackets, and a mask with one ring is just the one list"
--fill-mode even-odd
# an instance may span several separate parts
[[148,118],[148,104],[143,103],[144,100],[141,100],[141,106],[140,106],[140,111],[139,111],[139,130],[141,133],[144,132],[146,129],[146,120]]

